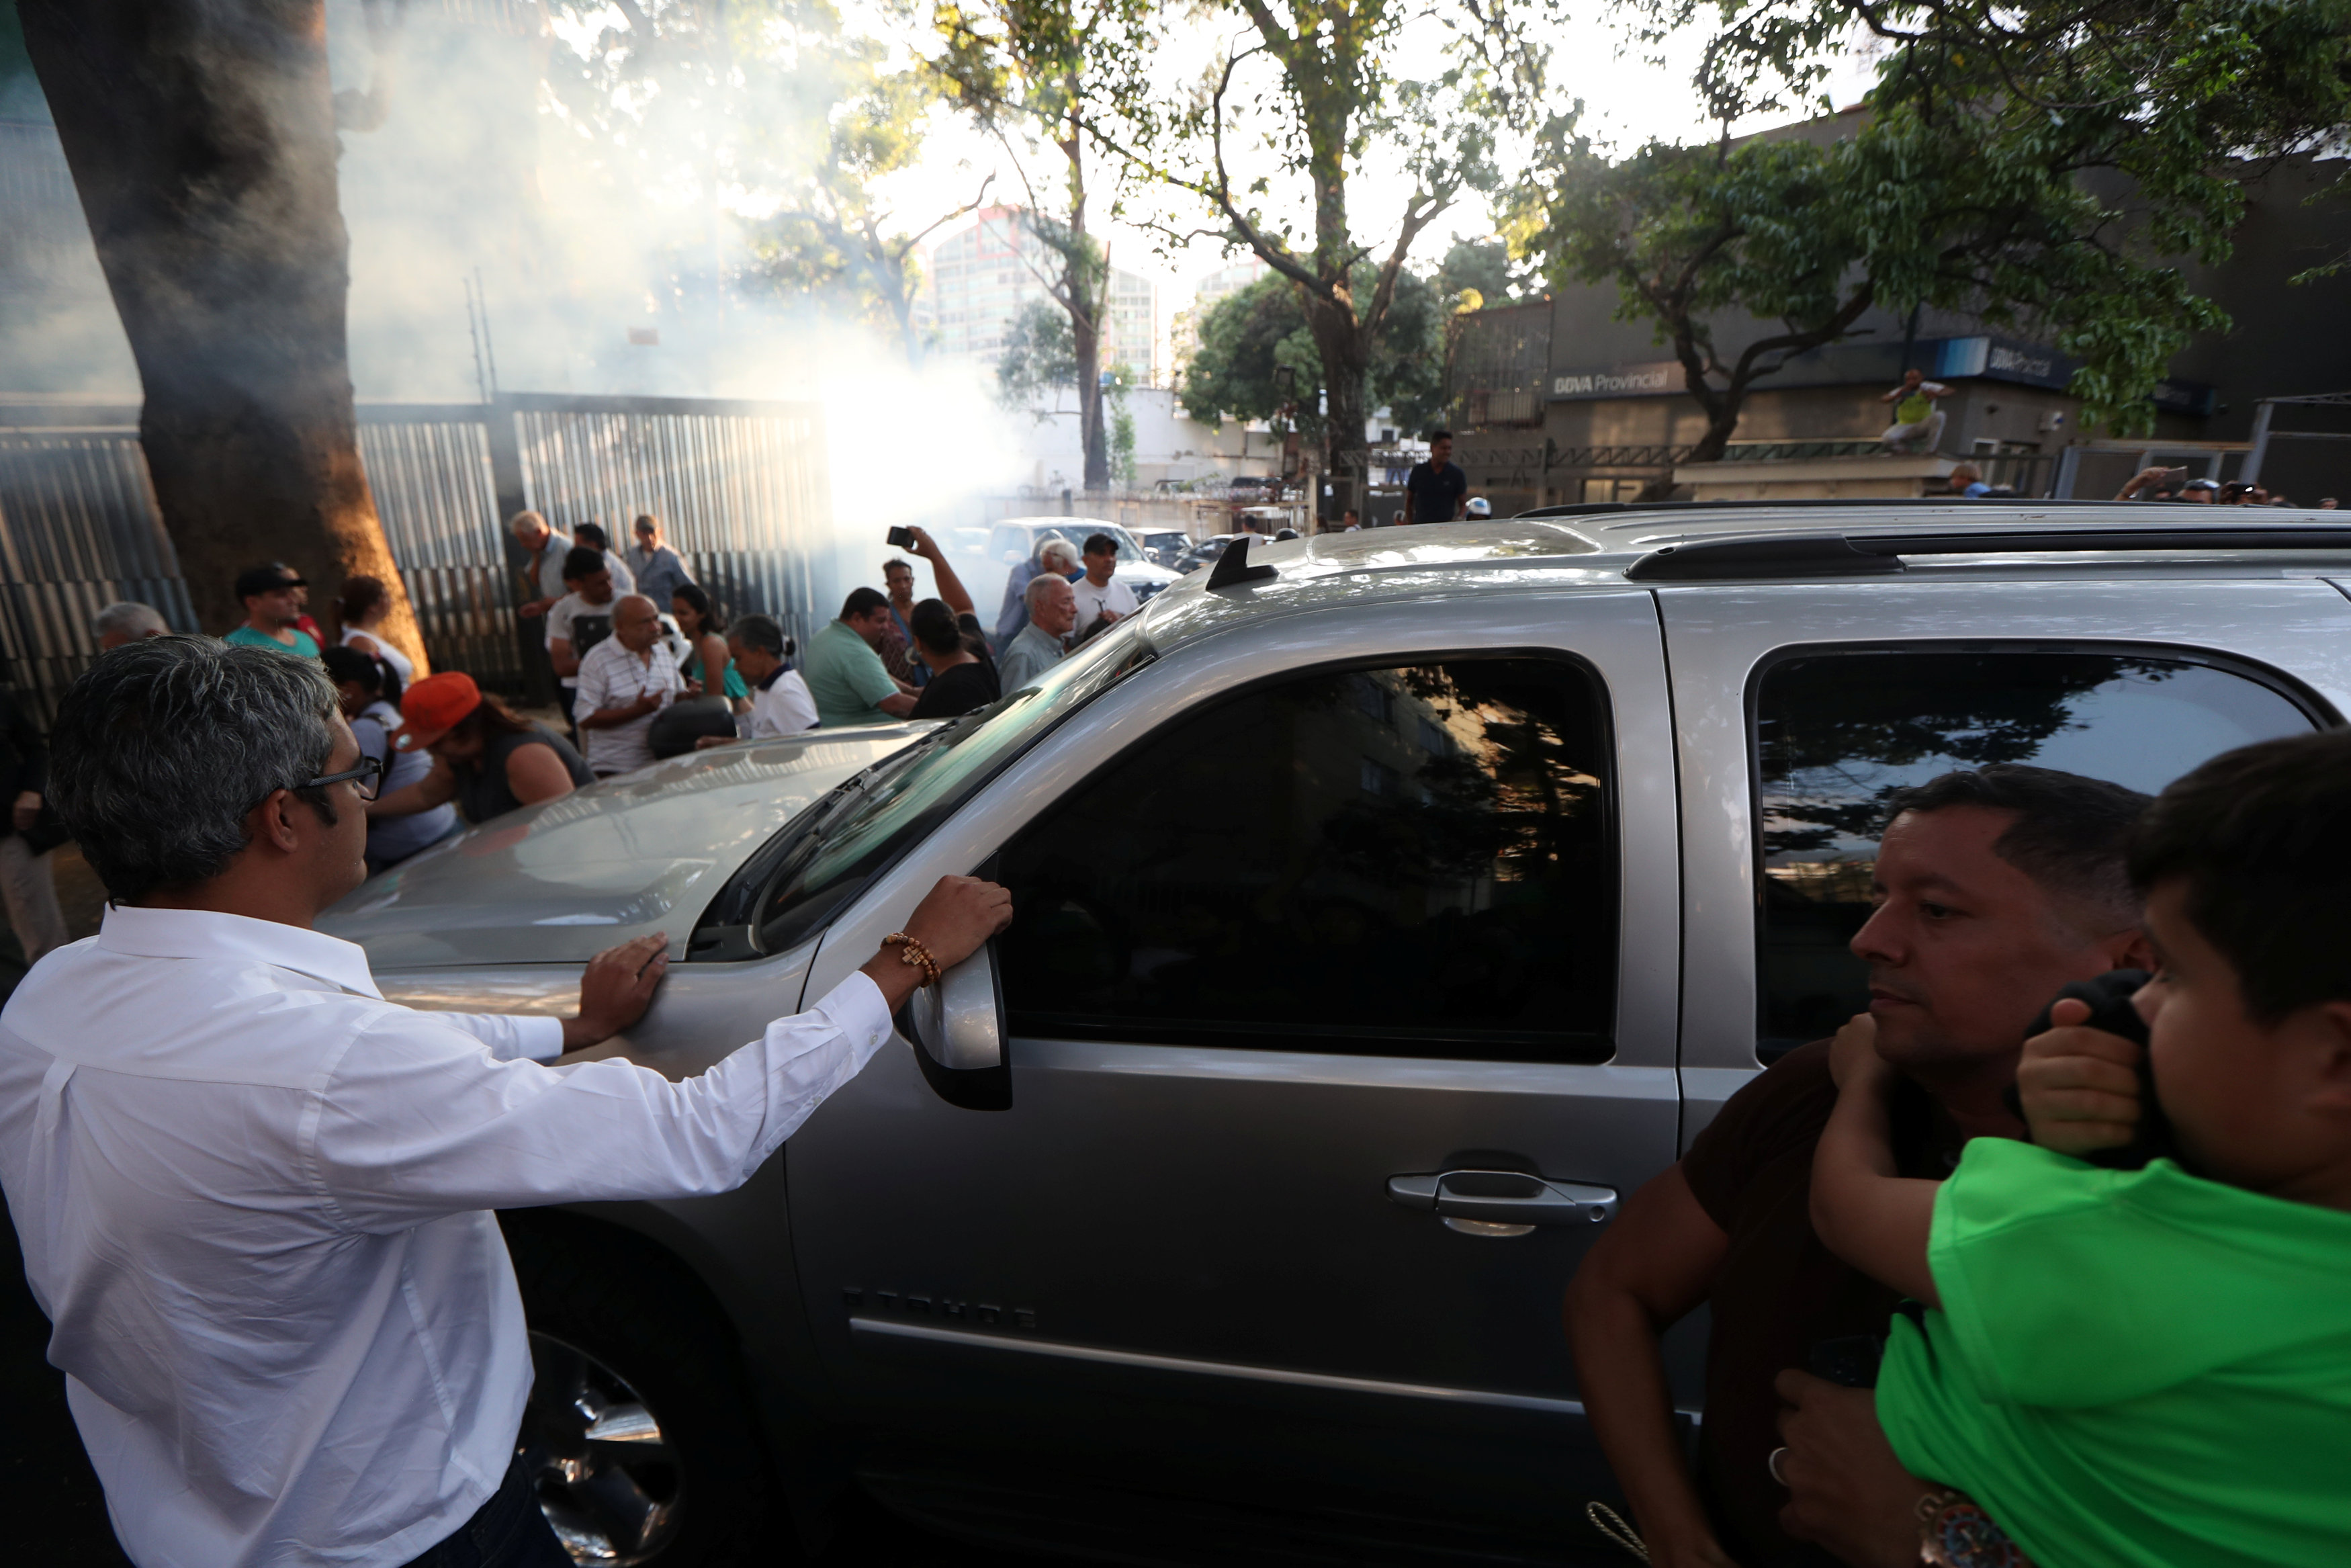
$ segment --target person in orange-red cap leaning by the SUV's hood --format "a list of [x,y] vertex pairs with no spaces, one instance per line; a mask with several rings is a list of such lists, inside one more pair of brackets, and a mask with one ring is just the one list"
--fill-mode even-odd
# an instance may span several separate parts
[[433,771],[367,804],[367,816],[409,816],[456,802],[468,823],[562,799],[595,783],[571,743],[545,724],[515,717],[505,703],[449,670],[428,675],[400,698],[395,750],[433,752]]

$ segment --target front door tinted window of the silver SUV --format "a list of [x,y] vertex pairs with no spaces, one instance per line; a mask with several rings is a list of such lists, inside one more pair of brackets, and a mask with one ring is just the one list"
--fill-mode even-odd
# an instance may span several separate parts
[[1004,851],[1011,1027],[1606,1060],[1610,778],[1566,661],[1317,672],[1187,715]]

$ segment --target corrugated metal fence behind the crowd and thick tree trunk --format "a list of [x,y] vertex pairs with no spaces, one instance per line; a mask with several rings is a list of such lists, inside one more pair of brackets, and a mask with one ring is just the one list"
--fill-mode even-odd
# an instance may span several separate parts
[[[42,724],[96,654],[115,599],[197,628],[139,449],[136,409],[0,402],[0,658]],[[545,670],[515,616],[520,552],[503,517],[531,505],[616,548],[654,512],[729,614],[769,614],[806,642],[813,567],[830,548],[823,416],[813,404],[698,397],[538,397],[362,404],[360,458],[437,668],[524,696]],[[668,607],[663,607],[668,609]]]

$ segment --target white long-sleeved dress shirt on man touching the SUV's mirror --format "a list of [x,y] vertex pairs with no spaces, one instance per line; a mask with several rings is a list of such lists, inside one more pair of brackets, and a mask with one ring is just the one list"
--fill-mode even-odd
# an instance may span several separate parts
[[726,1192],[889,1039],[851,976],[672,1084],[552,1018],[383,1001],[367,954],[110,907],[0,1011],[0,1187],[141,1568],[426,1552],[531,1389],[494,1208]]

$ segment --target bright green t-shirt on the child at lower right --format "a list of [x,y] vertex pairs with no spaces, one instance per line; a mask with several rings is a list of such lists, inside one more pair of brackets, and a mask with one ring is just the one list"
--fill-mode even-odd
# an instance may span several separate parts
[[2351,1561],[2351,1213],[1977,1138],[1878,1422],[2052,1568]]

